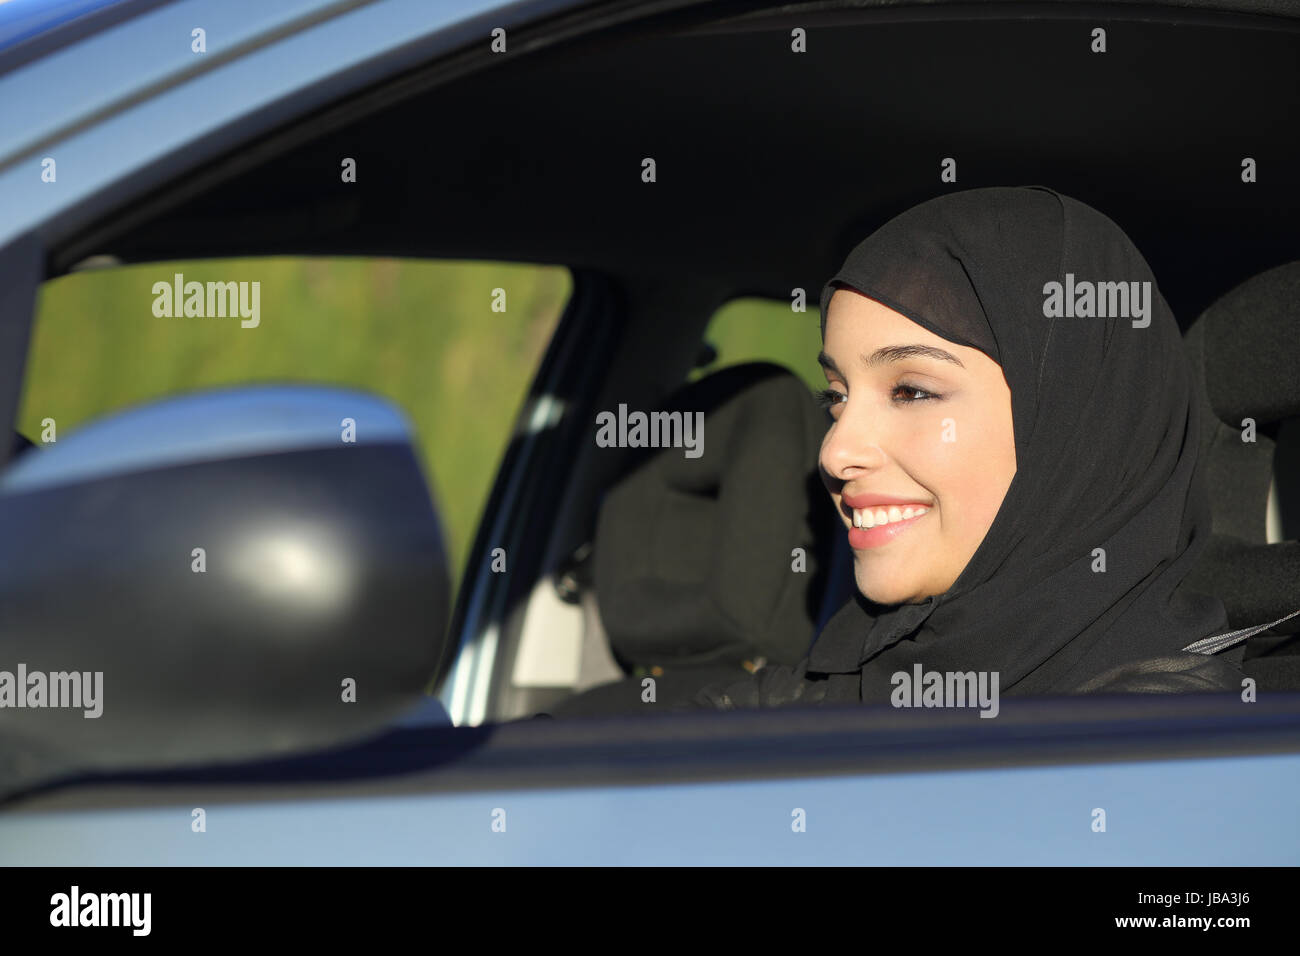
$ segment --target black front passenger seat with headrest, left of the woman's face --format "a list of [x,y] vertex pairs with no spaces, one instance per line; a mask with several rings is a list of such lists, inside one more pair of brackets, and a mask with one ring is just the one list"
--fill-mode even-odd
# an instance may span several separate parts
[[768,363],[715,372],[663,410],[703,412],[703,453],[656,449],[602,502],[594,583],[611,650],[629,670],[797,662],[833,527],[826,412]]

